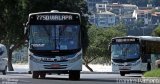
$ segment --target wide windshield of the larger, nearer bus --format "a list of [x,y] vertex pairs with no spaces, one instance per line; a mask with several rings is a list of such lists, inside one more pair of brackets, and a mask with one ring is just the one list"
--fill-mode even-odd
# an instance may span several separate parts
[[79,25],[30,25],[30,48],[73,50],[80,48]]

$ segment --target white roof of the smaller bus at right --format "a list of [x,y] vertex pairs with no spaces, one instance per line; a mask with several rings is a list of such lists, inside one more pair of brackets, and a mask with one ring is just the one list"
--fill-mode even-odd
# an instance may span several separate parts
[[156,36],[123,36],[123,37],[114,37],[112,39],[118,39],[118,38],[138,38],[140,40],[160,41],[160,37]]

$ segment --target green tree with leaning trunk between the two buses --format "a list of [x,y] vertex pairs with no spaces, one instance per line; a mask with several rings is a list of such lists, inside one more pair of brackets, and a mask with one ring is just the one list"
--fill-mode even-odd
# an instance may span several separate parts
[[95,26],[91,26],[88,30],[89,46],[86,55],[83,57],[84,65],[93,72],[93,69],[88,65],[89,63],[93,61],[96,61],[96,63],[109,63],[108,45],[111,39],[124,35],[126,35],[126,29],[122,24],[111,28],[96,28]]

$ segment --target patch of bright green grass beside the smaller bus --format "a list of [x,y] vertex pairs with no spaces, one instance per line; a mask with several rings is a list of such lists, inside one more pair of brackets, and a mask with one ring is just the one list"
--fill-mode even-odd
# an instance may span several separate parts
[[144,77],[160,77],[160,69],[145,72]]

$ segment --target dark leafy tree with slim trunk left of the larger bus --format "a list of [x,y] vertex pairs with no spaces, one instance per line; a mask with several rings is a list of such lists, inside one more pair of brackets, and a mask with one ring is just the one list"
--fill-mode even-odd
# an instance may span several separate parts
[[0,6],[0,43],[7,47],[8,69],[13,71],[12,52],[23,43],[24,7],[21,0],[1,0]]

